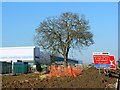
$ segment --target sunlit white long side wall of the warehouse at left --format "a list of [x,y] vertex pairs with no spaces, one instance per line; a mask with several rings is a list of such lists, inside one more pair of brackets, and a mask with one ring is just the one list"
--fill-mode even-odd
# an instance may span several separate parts
[[0,61],[33,61],[35,46],[28,47],[3,47],[0,48]]

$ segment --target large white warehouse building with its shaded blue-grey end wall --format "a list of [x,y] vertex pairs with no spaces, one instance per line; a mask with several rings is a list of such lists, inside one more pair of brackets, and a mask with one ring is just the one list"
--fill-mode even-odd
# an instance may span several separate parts
[[33,65],[35,61],[40,60],[40,49],[35,46],[0,48],[0,61],[16,62],[17,60]]

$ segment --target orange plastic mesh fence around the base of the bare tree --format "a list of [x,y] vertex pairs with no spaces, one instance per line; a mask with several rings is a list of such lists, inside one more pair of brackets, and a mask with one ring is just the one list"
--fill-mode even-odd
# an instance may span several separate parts
[[49,77],[60,77],[60,76],[73,76],[76,77],[77,75],[81,74],[81,68],[80,67],[66,67],[63,68],[61,66],[55,67],[52,66],[50,69]]

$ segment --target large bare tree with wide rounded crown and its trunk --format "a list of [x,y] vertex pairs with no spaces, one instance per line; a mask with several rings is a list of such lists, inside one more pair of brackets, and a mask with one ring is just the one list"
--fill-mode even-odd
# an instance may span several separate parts
[[61,54],[64,57],[64,66],[67,66],[70,48],[90,46],[94,43],[88,24],[84,16],[65,12],[59,17],[43,20],[36,29],[34,40],[43,49]]

